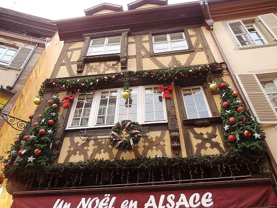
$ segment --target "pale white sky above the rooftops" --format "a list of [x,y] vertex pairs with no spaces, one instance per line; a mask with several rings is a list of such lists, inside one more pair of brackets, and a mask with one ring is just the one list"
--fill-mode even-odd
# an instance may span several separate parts
[[[51,19],[67,19],[84,16],[84,10],[99,3],[114,3],[123,5],[135,0],[0,0],[0,7]],[[169,4],[183,3],[194,0],[168,0]]]

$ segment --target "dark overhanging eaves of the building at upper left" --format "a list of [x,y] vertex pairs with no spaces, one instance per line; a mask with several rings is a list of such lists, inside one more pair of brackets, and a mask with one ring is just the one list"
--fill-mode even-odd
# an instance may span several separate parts
[[52,20],[0,7],[0,30],[51,38],[56,33],[56,26]]

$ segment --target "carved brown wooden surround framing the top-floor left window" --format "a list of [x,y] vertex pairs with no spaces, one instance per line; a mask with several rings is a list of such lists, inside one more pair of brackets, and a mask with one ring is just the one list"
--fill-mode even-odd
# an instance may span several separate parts
[[[110,60],[120,60],[121,68],[126,69],[127,61],[128,61],[127,54],[128,54],[128,33],[129,32],[130,32],[130,29],[124,29],[124,30],[111,30],[111,31],[84,34],[83,37],[85,39],[85,43],[83,46],[83,50],[80,54],[80,57],[77,60],[77,72],[78,73],[83,72],[85,63],[90,63],[95,61],[110,61]],[[120,36],[120,35],[121,35],[120,53],[90,55],[90,56],[86,55],[92,39]]]

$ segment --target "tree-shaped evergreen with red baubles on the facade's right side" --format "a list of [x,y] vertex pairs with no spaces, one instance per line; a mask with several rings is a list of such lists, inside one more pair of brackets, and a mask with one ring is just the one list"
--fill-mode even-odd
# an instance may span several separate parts
[[[223,137],[230,151],[236,152],[240,155],[264,154],[266,151],[266,144],[261,139],[265,137],[265,133],[261,129],[261,125],[254,117],[247,113],[248,109],[237,98],[237,92],[234,92],[226,82],[223,83],[225,83],[226,86],[222,83],[219,85],[222,99],[221,116],[224,124],[222,129]],[[223,105],[225,102],[227,102],[229,106],[224,107]],[[239,107],[243,107],[240,108],[242,110],[239,111]],[[230,118],[234,118],[233,124],[230,123]],[[249,131],[251,136],[246,137],[243,134],[244,131]],[[234,142],[230,142],[228,140],[229,136],[231,135],[235,137]]]

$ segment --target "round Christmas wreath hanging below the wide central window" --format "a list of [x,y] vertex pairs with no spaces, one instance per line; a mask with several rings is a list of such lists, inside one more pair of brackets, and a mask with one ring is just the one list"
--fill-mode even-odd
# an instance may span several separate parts
[[133,150],[141,137],[141,125],[131,120],[122,120],[115,124],[110,135],[110,143],[113,148],[123,151]]

